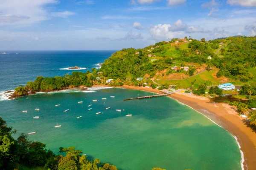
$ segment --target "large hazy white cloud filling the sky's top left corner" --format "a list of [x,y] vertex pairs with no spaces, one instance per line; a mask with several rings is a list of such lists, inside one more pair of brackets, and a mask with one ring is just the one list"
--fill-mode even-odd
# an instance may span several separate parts
[[49,19],[45,6],[56,0],[0,0],[0,25],[29,25]]

